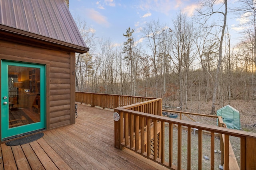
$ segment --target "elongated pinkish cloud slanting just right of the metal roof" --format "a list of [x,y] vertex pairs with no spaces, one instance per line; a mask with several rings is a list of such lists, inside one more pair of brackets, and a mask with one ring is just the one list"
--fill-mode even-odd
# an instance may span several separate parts
[[107,18],[105,16],[102,16],[102,14],[100,14],[100,12],[98,12],[92,8],[86,9],[86,16],[101,25],[105,25],[106,27],[110,26],[110,23],[108,23]]

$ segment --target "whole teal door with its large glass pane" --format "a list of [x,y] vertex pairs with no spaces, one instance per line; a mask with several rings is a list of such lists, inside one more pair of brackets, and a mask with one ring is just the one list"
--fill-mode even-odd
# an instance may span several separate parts
[[45,129],[45,65],[1,61],[2,141]]

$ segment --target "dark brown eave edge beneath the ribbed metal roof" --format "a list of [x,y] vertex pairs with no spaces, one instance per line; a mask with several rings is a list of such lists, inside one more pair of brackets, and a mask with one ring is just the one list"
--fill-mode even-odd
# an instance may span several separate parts
[[[75,45],[75,44],[72,44],[72,43],[67,43],[67,42],[64,42],[64,41],[60,41],[60,40],[57,40],[57,39],[53,39],[53,38],[50,38],[50,37],[45,37],[43,35],[39,35],[39,34],[36,34],[36,33],[31,33],[31,32],[28,32],[28,31],[24,31],[22,29],[17,29],[15,27],[10,27],[10,26],[7,26],[7,25],[3,25],[3,24],[0,24],[0,31],[4,31],[6,33],[12,33],[12,34],[15,34],[15,35],[19,35],[21,37],[27,37],[29,39],[36,39],[36,40],[40,40],[42,43],[51,43],[52,45],[55,45],[56,47],[58,46],[63,46],[65,49],[68,49],[70,50],[70,52],[76,52],[76,53],[86,53],[89,51],[89,48],[88,47],[82,47],[82,46],[79,46],[79,45]],[[11,39],[10,39],[11,41]]]

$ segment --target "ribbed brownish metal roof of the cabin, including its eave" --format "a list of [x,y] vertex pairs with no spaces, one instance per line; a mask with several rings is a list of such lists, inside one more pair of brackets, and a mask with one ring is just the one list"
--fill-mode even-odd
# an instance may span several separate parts
[[89,50],[64,0],[0,0],[0,31]]

